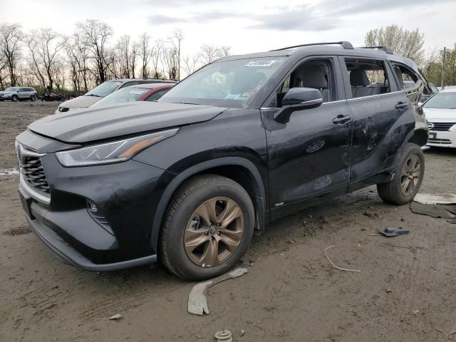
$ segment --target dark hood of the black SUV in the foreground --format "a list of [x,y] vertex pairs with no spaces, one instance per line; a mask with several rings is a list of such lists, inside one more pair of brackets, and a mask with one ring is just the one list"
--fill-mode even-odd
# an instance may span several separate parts
[[62,142],[85,143],[199,123],[214,118],[226,109],[138,101],[50,115],[31,123],[28,129]]

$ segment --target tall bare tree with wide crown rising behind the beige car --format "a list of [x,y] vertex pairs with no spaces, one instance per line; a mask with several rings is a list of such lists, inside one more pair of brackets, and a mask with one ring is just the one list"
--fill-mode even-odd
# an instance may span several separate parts
[[114,58],[109,51],[108,42],[113,36],[113,29],[103,21],[88,19],[76,24],[76,31],[86,46],[90,58],[95,61],[94,76],[97,83],[106,81],[108,68]]

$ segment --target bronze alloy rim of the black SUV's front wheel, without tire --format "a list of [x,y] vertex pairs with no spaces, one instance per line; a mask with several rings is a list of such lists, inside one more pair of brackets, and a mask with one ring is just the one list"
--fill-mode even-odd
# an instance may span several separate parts
[[232,256],[244,234],[244,215],[227,197],[214,197],[199,205],[185,227],[187,257],[202,267],[217,266]]

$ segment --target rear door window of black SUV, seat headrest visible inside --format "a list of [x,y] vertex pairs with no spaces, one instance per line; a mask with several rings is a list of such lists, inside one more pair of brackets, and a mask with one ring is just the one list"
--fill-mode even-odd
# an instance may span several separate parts
[[391,92],[384,61],[352,58],[345,61],[353,98]]

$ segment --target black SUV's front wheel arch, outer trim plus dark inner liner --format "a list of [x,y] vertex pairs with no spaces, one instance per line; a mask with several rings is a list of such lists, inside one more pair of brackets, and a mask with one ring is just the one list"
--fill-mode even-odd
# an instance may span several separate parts
[[209,173],[230,178],[244,187],[254,204],[255,232],[261,234],[261,232],[264,231],[264,225],[266,224],[267,197],[265,185],[257,166],[250,160],[242,157],[220,157],[189,167],[187,170],[180,172],[180,174],[167,185],[160,198],[160,202],[157,205],[157,210],[155,211],[155,216],[152,221],[152,234],[150,239],[152,248],[155,251],[157,251],[160,230],[168,204],[170,204],[170,201],[177,190],[179,190],[181,185],[191,177]]

